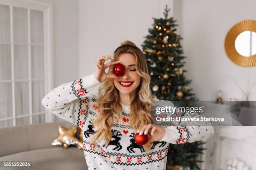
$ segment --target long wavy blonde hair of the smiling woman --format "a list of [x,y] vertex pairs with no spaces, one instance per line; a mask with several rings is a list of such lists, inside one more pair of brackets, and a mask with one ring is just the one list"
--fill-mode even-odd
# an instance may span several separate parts
[[[120,54],[130,53],[136,58],[136,72],[141,76],[140,84],[137,88],[137,92],[130,105],[130,127],[136,134],[140,127],[151,123],[151,102],[156,99],[155,95],[151,95],[149,87],[150,76],[148,75],[148,67],[143,55],[143,52],[131,41],[124,41],[121,43],[113,55],[114,60],[118,61]],[[108,74],[110,70],[109,67]],[[108,78],[100,85],[98,89],[98,98],[96,102],[93,102],[98,109],[97,117],[92,121],[92,125],[96,129],[95,133],[90,136],[90,143],[96,145],[96,140],[99,142],[105,139],[105,147],[107,147],[112,138],[111,127],[114,121],[114,117],[117,116],[119,120],[123,121],[122,106],[120,104],[119,91],[115,87],[113,79]],[[94,106],[95,106],[94,105]],[[151,134],[148,133],[148,137]],[[96,145],[97,146],[97,145]],[[143,145],[145,151],[149,151],[152,143]]]

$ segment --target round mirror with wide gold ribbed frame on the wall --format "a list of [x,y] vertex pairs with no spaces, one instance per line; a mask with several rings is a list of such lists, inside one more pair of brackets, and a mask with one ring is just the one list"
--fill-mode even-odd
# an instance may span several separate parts
[[226,35],[225,51],[231,61],[242,67],[256,65],[256,20],[234,25]]

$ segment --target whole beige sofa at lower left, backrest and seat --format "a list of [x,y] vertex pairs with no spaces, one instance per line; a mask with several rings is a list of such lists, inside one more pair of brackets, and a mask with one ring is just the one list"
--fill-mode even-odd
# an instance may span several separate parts
[[0,170],[88,170],[83,150],[51,145],[58,126],[73,125],[54,122],[0,128],[0,161],[31,161],[31,167]]

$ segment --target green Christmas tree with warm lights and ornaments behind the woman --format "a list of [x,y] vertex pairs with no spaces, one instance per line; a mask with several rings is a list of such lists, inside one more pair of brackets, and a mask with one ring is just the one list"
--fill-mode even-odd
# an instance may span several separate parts
[[[165,18],[153,18],[153,28],[149,28],[149,35],[144,37],[143,53],[148,64],[148,71],[151,75],[150,87],[154,95],[160,100],[197,100],[195,93],[189,89],[192,80],[187,80],[182,67],[186,62],[182,61],[185,56],[180,45],[182,37],[177,34],[177,20],[168,18],[167,5],[164,9]],[[167,170],[179,170],[181,167],[190,170],[200,169],[197,162],[199,154],[202,154],[202,141],[185,143],[182,145],[169,145],[167,155]]]

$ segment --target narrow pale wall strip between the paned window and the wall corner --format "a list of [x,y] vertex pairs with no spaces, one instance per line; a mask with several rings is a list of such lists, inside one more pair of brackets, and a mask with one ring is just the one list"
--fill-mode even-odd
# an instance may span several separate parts
[[54,87],[79,75],[79,0],[36,0],[53,4]]

